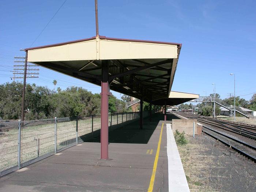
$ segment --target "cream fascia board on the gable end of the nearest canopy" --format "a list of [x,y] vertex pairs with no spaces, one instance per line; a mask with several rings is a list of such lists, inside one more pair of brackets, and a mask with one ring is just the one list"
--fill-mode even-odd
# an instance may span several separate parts
[[121,41],[97,38],[29,48],[28,62],[112,60],[112,59],[178,59],[177,45],[153,41]]

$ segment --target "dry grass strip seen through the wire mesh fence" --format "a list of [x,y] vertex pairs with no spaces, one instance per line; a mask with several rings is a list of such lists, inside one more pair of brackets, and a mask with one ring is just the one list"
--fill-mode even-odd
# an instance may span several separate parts
[[[132,117],[131,120],[135,118]],[[64,119],[63,119],[64,120]],[[112,116],[112,125],[122,123],[122,114]],[[129,121],[128,114],[123,115],[123,122]],[[109,116],[109,121],[111,117]],[[18,164],[18,124],[5,123],[5,128],[0,132],[0,171]],[[110,122],[109,122],[110,125]],[[10,128],[7,128],[7,127]],[[93,131],[101,128],[101,117],[93,118]],[[21,132],[21,163],[29,161],[55,151],[54,119],[27,121]],[[91,117],[78,120],[78,137],[92,132]],[[39,140],[39,146],[38,146]],[[57,149],[64,148],[70,143],[76,142],[76,120],[67,120],[57,123]]]

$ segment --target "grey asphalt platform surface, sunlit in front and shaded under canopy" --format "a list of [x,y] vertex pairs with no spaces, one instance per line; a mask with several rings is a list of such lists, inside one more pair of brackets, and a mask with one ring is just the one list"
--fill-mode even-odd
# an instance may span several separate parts
[[[171,120],[172,114],[167,114]],[[177,118],[177,117],[176,117]],[[147,191],[163,124],[153,191],[168,191],[166,123],[144,120],[109,132],[109,160],[101,160],[98,138],[0,178],[0,191]]]

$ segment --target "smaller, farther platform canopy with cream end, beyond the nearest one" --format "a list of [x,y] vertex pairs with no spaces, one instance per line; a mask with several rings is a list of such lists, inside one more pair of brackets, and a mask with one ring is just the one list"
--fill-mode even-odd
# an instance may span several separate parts
[[163,105],[162,103],[166,102],[166,105],[179,105],[191,101],[193,99],[199,98],[199,95],[192,93],[183,93],[178,91],[170,91],[170,95],[166,99],[158,99],[153,101],[153,105]]

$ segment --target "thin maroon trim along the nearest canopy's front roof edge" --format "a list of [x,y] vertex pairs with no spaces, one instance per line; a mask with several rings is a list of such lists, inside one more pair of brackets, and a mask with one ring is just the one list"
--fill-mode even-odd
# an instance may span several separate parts
[[[57,44],[51,44],[51,45],[44,45],[44,46],[38,46],[38,47],[32,47],[32,48],[26,48],[25,51],[27,50],[33,50],[33,49],[41,49],[41,48],[47,48],[47,47],[54,47],[54,46],[60,46],[60,45],[66,45],[66,44],[71,44],[71,43],[78,43],[82,41],[89,41],[93,40],[96,37],[91,37],[87,39],[79,39],[75,41],[68,41],[68,42],[63,42],[63,43],[57,43]],[[162,42],[162,41],[147,41],[147,40],[138,40],[138,39],[120,39],[120,38],[112,38],[112,37],[106,37],[106,36],[101,36],[99,35],[100,39],[107,39],[107,40],[114,40],[114,41],[132,41],[132,42],[144,42],[144,43],[155,43],[155,44],[166,44],[166,45],[177,45],[178,48],[181,48],[182,44],[179,43],[171,43],[171,42]]]

